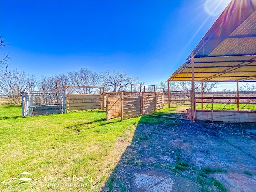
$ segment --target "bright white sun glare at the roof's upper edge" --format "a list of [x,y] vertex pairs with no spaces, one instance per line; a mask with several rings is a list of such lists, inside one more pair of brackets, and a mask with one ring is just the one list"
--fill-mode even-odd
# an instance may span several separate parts
[[212,16],[217,16],[223,12],[230,2],[231,0],[206,0],[204,10]]

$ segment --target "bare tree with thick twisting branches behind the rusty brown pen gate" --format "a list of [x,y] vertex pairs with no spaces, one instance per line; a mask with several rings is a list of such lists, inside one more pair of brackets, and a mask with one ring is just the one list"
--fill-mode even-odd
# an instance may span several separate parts
[[110,74],[109,71],[101,72],[100,77],[103,81],[103,86],[107,91],[126,91],[128,85],[138,83],[138,78],[127,76],[125,72],[115,72]]

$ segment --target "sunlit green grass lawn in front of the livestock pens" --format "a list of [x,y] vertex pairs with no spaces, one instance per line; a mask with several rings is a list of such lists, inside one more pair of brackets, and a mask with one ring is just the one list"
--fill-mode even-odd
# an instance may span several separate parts
[[[21,106],[0,106],[0,191],[100,191],[132,142],[136,125],[161,121],[140,116],[106,122],[102,110],[22,118]],[[40,181],[16,187],[18,179],[11,178],[23,172]],[[1,183],[8,179],[10,189]],[[76,186],[63,186],[68,183]]]

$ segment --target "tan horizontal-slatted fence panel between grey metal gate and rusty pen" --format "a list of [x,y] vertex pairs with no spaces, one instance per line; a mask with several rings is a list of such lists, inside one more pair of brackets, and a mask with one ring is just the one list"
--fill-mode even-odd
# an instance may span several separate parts
[[68,110],[102,108],[102,95],[68,95]]

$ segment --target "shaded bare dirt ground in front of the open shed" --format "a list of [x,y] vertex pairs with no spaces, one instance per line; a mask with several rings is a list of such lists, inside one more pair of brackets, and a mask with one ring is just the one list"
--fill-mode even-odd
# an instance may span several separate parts
[[138,124],[106,191],[256,192],[256,125]]

